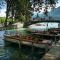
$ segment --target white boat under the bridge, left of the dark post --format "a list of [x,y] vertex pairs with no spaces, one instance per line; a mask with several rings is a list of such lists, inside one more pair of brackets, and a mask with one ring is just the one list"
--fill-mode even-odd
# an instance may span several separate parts
[[31,31],[31,32],[40,32],[40,31],[46,31],[46,30],[47,30],[47,24],[44,24],[44,23],[36,23],[28,27],[28,31]]

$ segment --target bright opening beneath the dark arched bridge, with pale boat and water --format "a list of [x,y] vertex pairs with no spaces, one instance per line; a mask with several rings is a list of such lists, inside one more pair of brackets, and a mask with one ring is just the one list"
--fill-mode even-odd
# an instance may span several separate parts
[[28,31],[31,32],[41,32],[41,31],[47,31],[51,28],[58,28],[58,23],[36,23],[28,26]]

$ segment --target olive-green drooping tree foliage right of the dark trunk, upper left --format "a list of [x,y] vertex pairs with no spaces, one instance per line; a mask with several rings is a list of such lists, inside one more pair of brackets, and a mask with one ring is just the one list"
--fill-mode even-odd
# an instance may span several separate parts
[[26,21],[29,17],[29,9],[31,8],[29,4],[29,0],[18,0],[18,4],[16,4],[16,16],[21,19],[21,21]]

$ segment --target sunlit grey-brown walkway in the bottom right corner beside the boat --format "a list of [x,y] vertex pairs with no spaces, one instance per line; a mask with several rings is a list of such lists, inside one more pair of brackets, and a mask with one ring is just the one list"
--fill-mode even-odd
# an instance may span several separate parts
[[53,44],[52,48],[43,56],[41,60],[60,60],[60,40]]

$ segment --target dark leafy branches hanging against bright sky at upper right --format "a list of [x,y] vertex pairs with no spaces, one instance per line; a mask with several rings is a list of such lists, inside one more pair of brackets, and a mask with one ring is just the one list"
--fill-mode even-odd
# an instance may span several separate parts
[[47,15],[48,9],[54,9],[58,0],[33,0],[33,7],[35,8],[38,5],[36,10],[42,10],[44,8],[44,14]]

